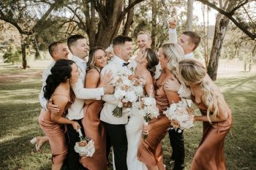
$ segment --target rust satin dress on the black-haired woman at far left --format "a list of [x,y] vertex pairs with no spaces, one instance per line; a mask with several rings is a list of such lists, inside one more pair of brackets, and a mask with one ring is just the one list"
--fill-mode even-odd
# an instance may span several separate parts
[[[65,96],[63,94],[53,94],[53,96]],[[68,96],[65,96],[68,98]],[[62,113],[62,117],[64,117],[67,109],[74,101],[74,97],[71,97],[72,101],[68,101],[64,112]],[[52,152],[52,163],[59,164],[63,163],[64,159],[67,155],[67,142],[65,138],[65,130],[64,124],[59,124],[53,122],[50,117],[51,113],[49,111],[45,111],[45,109],[41,109],[39,115],[39,125],[44,131],[45,135],[48,136],[50,142],[50,150]]]

